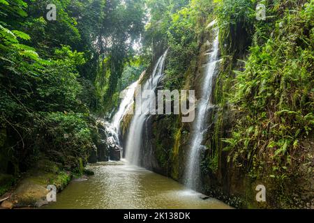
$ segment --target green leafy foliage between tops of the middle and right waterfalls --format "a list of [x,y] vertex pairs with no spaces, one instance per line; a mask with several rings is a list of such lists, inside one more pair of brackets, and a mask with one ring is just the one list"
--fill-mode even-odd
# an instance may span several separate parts
[[[165,88],[181,89],[183,83],[180,79],[184,78],[188,67],[195,62],[192,59],[195,59],[198,54],[200,35],[204,33],[207,24],[213,20],[211,10],[213,6],[210,1],[190,1],[177,10],[164,13],[167,16],[156,24],[159,26],[160,22],[167,21],[167,26],[159,29],[166,36],[167,45],[170,47],[170,54],[167,56]],[[157,39],[160,40],[158,36]]]

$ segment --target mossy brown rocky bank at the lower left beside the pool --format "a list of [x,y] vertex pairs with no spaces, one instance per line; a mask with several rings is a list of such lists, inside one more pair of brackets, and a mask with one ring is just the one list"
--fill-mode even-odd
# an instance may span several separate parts
[[80,166],[79,171],[66,171],[62,164],[47,159],[39,160],[35,167],[15,178],[15,183],[6,188],[0,197],[0,208],[39,208],[47,205],[50,192],[47,185],[54,185],[61,192],[71,180],[87,178],[94,174]]

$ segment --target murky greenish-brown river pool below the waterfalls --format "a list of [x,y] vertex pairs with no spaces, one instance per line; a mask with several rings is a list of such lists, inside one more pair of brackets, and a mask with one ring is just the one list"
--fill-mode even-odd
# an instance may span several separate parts
[[57,202],[43,208],[230,208],[154,172],[131,166],[126,161],[99,162],[87,167],[94,171],[88,180],[73,180]]

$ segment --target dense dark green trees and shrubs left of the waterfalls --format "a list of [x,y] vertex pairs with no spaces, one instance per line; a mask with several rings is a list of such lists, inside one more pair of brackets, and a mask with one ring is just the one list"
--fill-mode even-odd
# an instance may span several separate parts
[[46,158],[77,172],[99,138],[91,114],[111,109],[117,87],[141,67],[130,61],[144,26],[141,0],[49,3],[55,21],[47,1],[0,1],[1,178]]

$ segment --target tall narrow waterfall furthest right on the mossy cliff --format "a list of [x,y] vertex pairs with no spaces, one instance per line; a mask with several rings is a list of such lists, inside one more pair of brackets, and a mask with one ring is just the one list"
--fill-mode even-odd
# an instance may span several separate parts
[[187,187],[197,190],[200,180],[200,153],[204,147],[202,145],[204,133],[207,130],[207,118],[209,110],[214,105],[211,104],[211,95],[213,82],[217,74],[216,65],[218,62],[218,29],[214,28],[215,39],[212,43],[210,53],[208,54],[208,63],[205,71],[202,89],[200,89],[201,98],[197,102],[197,110],[193,130],[191,132],[190,151],[185,171],[185,184]]

